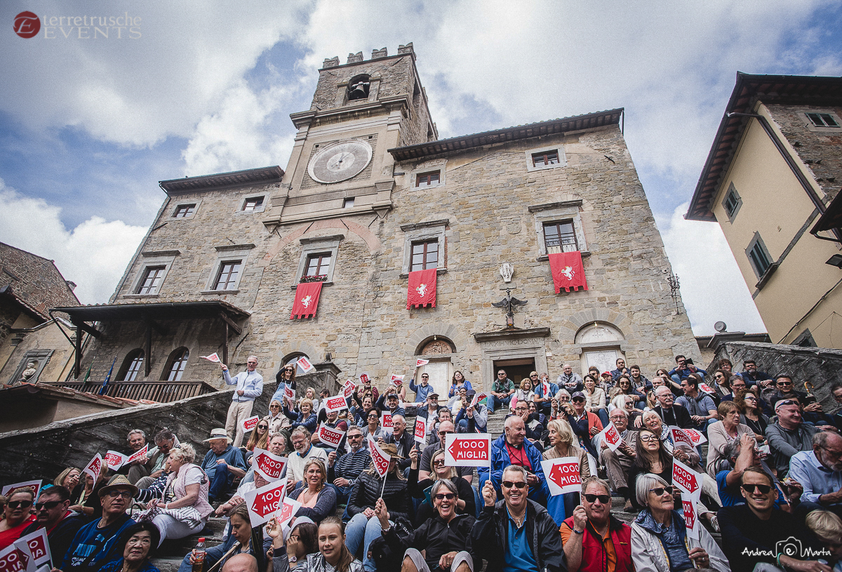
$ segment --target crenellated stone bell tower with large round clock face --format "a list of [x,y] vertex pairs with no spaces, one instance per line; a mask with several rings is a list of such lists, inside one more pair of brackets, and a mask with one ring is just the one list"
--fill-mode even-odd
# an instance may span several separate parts
[[438,138],[413,45],[325,59],[310,109],[290,115],[296,142],[264,224],[306,222],[392,208],[393,147]]

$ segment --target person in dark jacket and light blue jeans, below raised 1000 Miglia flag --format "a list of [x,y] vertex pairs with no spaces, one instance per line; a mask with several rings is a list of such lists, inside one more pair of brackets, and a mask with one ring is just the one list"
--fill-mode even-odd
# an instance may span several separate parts
[[352,554],[357,553],[362,546],[363,565],[367,570],[375,569],[374,562],[368,557],[370,543],[381,536],[380,521],[377,520],[375,505],[381,498],[386,503],[386,509],[392,517],[409,517],[412,505],[409,501],[407,480],[402,471],[397,468],[397,462],[403,457],[398,456],[394,443],[381,446],[383,452],[391,455],[386,482],[377,473],[374,462],[357,478],[354,489],[348,500],[347,511],[351,516],[348,527],[345,528],[346,541]]

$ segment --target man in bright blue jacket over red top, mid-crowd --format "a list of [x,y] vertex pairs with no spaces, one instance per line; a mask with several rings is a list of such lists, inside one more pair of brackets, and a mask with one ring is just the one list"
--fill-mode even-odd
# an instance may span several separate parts
[[500,483],[503,481],[504,468],[517,465],[525,468],[526,482],[529,484],[529,498],[540,505],[546,505],[550,489],[546,485],[544,470],[541,468],[541,450],[526,439],[524,420],[517,415],[506,419],[503,435],[491,443],[491,470],[477,469],[479,487],[491,480],[494,489],[502,494]]

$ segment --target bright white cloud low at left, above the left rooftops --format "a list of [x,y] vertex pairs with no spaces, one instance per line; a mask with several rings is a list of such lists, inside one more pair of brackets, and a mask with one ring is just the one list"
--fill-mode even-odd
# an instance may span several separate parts
[[90,217],[68,230],[60,215],[60,207],[20,195],[0,179],[0,241],[55,260],[61,275],[76,282],[81,302],[108,302],[147,229]]

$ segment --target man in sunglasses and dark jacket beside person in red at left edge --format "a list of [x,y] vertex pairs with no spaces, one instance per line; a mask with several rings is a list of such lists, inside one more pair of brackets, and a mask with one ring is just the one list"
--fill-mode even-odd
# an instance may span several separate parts
[[56,486],[41,489],[38,502],[35,503],[35,519],[21,536],[45,528],[50,553],[56,564],[64,558],[79,529],[88,522],[87,516],[70,510],[70,491]]

